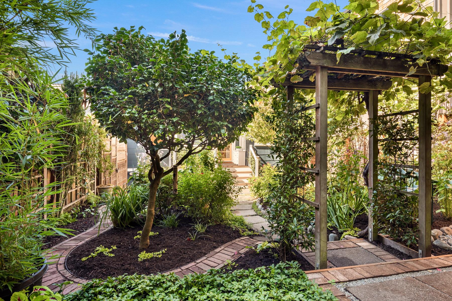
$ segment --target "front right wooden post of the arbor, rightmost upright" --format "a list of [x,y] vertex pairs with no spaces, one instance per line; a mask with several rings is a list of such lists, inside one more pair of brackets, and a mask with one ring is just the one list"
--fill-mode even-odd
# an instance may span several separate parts
[[[432,77],[419,75],[419,86]],[[432,93],[419,92],[419,257],[432,255]]]

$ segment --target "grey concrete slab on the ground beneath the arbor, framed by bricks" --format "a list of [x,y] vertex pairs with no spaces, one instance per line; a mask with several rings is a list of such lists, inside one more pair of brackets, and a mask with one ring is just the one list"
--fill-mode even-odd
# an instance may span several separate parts
[[327,251],[328,260],[336,267],[348,267],[359,264],[376,264],[385,262],[363,248],[344,248]]

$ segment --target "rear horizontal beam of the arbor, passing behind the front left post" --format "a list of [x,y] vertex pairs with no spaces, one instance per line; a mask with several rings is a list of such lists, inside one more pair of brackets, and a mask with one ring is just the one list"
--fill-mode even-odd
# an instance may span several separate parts
[[[317,77],[316,77],[317,78]],[[298,83],[292,83],[290,79],[285,79],[282,86],[294,87],[298,89],[315,89],[315,80],[311,82],[305,79]],[[391,80],[372,79],[328,79],[328,90],[348,90],[348,91],[368,91],[368,90],[388,90],[392,86]],[[275,85],[275,87],[277,87]]]

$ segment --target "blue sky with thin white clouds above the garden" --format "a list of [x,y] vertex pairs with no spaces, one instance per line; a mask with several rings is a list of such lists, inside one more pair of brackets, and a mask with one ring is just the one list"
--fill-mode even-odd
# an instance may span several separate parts
[[[309,0],[261,0],[255,4],[264,5],[273,16],[278,16],[286,5],[290,5],[293,13],[290,19],[302,24],[308,15],[306,8]],[[337,4],[344,7],[346,1],[339,0]],[[348,3],[348,1],[347,1]],[[97,0],[90,5],[94,9],[97,20],[92,23],[100,32],[109,33],[113,27],[130,28],[141,25],[146,28],[143,33],[154,37],[168,37],[170,32],[180,32],[185,29],[192,50],[206,49],[216,51],[221,58],[220,47],[226,48],[227,54],[237,52],[241,59],[253,63],[253,57],[260,51],[262,57],[268,56],[268,51],[262,49],[267,38],[262,33],[260,24],[254,20],[254,14],[247,12],[250,0],[219,1],[219,0]],[[81,49],[90,48],[91,42],[83,37],[77,41]],[[84,72],[88,55],[78,51],[77,56],[71,56],[68,73]],[[60,75],[63,74],[61,69]]]

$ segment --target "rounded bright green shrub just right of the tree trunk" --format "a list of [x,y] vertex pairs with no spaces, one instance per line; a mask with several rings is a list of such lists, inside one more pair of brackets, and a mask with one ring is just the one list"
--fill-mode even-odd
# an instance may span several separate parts
[[179,204],[195,220],[222,222],[235,204],[235,179],[221,167],[199,173],[181,172],[178,183]]

